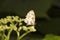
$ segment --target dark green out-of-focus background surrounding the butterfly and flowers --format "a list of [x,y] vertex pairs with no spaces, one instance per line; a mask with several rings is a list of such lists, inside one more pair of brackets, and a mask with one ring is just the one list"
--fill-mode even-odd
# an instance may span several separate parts
[[[58,4],[53,2],[53,0],[0,0],[0,18],[7,15],[24,18],[30,10],[34,10],[37,32],[27,35],[23,40],[41,40],[45,34],[60,35],[60,18],[55,17],[59,15],[60,9],[57,7]],[[55,16],[50,17],[51,15]]]

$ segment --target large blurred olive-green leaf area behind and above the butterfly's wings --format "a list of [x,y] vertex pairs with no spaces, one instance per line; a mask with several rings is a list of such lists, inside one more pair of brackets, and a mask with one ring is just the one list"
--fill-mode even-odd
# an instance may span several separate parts
[[9,12],[9,14],[13,12],[20,17],[25,17],[26,13],[33,9],[36,17],[47,17],[46,13],[52,1],[53,0],[0,0],[0,12]]

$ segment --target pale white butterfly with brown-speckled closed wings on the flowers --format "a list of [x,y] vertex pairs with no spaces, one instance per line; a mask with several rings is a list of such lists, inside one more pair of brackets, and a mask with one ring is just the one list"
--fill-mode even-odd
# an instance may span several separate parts
[[27,23],[27,25],[35,25],[35,13],[33,10],[30,10],[26,18],[24,19],[24,22]]

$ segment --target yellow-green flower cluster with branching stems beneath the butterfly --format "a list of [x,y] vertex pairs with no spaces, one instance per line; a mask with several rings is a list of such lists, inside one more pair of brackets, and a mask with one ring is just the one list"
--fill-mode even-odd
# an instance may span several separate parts
[[[26,34],[30,32],[36,31],[34,26],[29,26],[29,27],[24,26],[22,23],[23,21],[24,19],[21,19],[18,16],[7,16],[6,18],[1,18],[0,19],[0,32],[4,33],[5,30],[8,30],[8,34],[4,36],[5,37],[4,40],[9,40],[10,34],[13,30],[16,31],[17,33],[17,37],[18,37],[17,40],[20,40],[21,38],[23,38]],[[17,25],[19,26],[19,28],[17,27]],[[26,33],[20,36],[21,30],[26,31]]]

